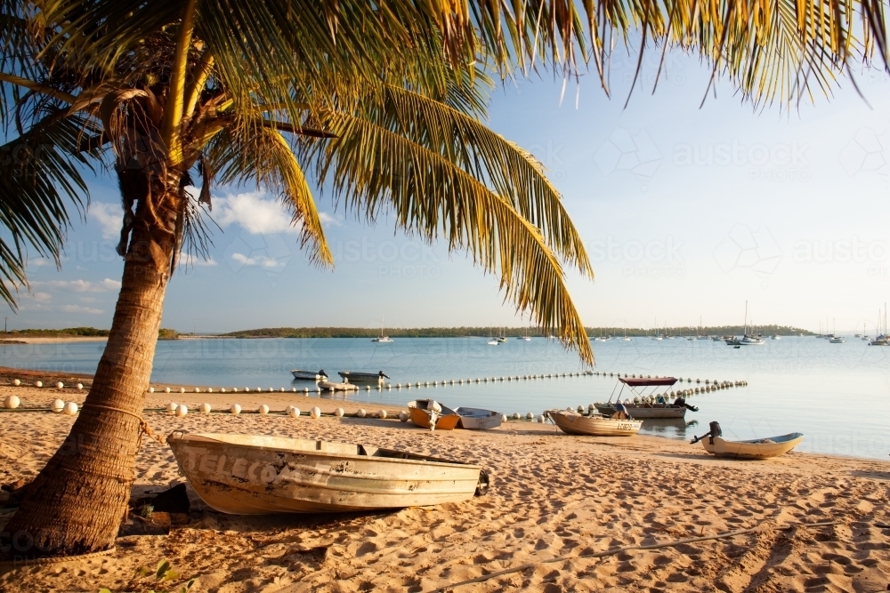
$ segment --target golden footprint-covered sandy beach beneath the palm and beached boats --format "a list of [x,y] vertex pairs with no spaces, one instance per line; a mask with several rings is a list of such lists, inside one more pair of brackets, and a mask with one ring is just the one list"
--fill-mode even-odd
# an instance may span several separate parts
[[[85,391],[0,388],[22,407]],[[358,405],[296,394],[174,394],[194,409],[266,403],[324,411]],[[152,394],[147,407],[171,396]],[[406,397],[408,399],[409,397]],[[392,405],[362,404],[368,411]],[[303,415],[146,413],[174,429],[370,443],[472,461],[489,493],[459,504],[358,515],[235,517],[207,509],[193,491],[186,525],[165,535],[127,535],[109,555],[17,568],[0,590],[148,590],[142,565],[168,560],[192,590],[247,591],[856,591],[890,583],[890,462],[792,452],[772,461],[721,461],[700,445],[659,437],[568,437],[551,425],[511,421],[489,432],[417,429],[399,421]],[[0,484],[36,475],[73,418],[0,415]],[[166,446],[146,442],[134,494],[184,478]],[[0,515],[4,525],[9,514]],[[833,523],[806,527],[799,524]],[[676,547],[595,552],[747,528],[755,533]],[[554,557],[568,557],[546,563]],[[481,583],[460,581],[535,564]],[[2,572],[2,571],[0,571]]]

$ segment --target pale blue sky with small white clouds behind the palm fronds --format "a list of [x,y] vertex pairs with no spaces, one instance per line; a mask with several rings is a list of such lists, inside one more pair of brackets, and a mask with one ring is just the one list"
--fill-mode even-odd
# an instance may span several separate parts
[[[550,170],[593,259],[595,280],[570,275],[586,325],[756,324],[874,331],[890,300],[890,80],[860,73],[788,112],[756,111],[709,72],[658,55],[623,108],[635,56],[613,65],[611,99],[595,76],[580,92],[542,78],[494,93],[490,126]],[[576,108],[577,102],[577,108]],[[253,188],[217,188],[212,260],[182,268],[164,326],[227,332],[268,326],[522,325],[497,281],[463,253],[426,245],[381,220],[368,227],[318,193],[334,271],[310,267],[287,216]],[[32,295],[10,327],[109,327],[122,262],[114,180],[93,183],[85,223],[61,271],[31,260]],[[835,321],[836,320],[836,321]]]

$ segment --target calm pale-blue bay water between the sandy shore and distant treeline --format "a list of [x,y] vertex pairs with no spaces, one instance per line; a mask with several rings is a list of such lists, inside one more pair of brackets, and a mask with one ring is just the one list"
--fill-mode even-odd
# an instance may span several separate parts
[[[0,365],[93,373],[103,346],[0,346]],[[687,413],[685,422],[647,421],[643,431],[688,438],[705,432],[708,421],[716,420],[730,438],[798,431],[806,435],[800,446],[805,451],[885,460],[890,453],[890,347],[868,346],[854,338],[830,344],[813,337],[786,337],[741,349],[715,341],[642,338],[594,346],[600,371],[748,381],[745,388],[690,398],[700,411]],[[303,389],[305,382],[292,381],[292,368],[323,368],[332,377],[343,370],[383,370],[393,385],[580,370],[577,357],[542,339],[512,339],[497,347],[482,338],[397,339],[391,344],[366,339],[182,340],[158,343],[152,381],[186,387]],[[450,407],[537,415],[549,407],[605,401],[615,383],[602,376],[498,381],[362,391],[349,399],[404,405],[416,397],[435,397]]]

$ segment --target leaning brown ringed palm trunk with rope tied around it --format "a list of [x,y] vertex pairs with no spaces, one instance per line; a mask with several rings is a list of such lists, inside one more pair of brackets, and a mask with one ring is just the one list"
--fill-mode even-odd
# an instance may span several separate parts
[[[123,175],[121,181],[126,193]],[[158,216],[158,205],[178,203],[177,186],[178,179],[166,187],[142,183],[149,191],[137,196],[117,308],[93,387],[65,443],[28,485],[4,529],[0,556],[71,556],[114,544],[134,481],[142,405],[175,244],[169,230],[175,212],[165,207]],[[155,204],[146,209],[146,201]]]

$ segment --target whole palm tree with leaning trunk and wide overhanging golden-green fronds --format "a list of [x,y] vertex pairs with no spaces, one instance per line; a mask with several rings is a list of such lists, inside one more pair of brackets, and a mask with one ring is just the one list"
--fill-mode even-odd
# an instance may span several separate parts
[[[506,298],[587,363],[563,265],[592,276],[559,193],[530,154],[480,123],[490,80],[591,60],[608,92],[614,37],[638,26],[698,51],[751,98],[827,87],[853,48],[885,50],[879,3],[756,5],[383,0],[0,0],[7,179],[0,295],[26,282],[23,244],[56,258],[85,167],[112,169],[125,260],[108,345],[65,445],[6,526],[14,555],[113,543],[134,476],[166,285],[206,253],[212,184],[280,196],[310,260],[332,265],[306,172],[346,208],[396,224],[498,275]],[[587,23],[583,20],[587,16]],[[587,33],[585,32],[587,31]],[[10,161],[7,163],[7,161]]]

